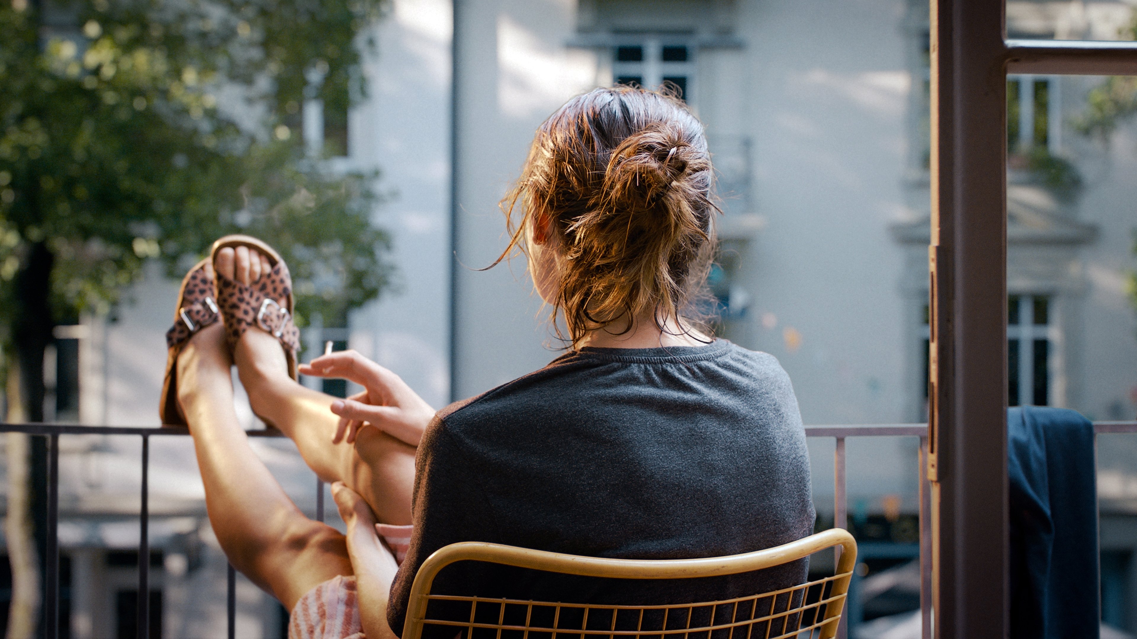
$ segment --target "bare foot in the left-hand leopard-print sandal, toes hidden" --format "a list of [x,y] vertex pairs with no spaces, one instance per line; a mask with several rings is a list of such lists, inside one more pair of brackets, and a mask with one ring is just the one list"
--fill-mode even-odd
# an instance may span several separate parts
[[225,347],[225,327],[213,324],[194,333],[177,356],[177,403],[186,420],[202,403],[233,403],[233,365]]

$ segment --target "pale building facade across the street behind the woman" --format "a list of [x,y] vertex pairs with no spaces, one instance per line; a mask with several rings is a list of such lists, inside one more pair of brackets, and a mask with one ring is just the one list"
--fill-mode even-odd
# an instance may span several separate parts
[[[1134,8],[1012,1],[1007,16],[1021,36],[1117,39]],[[392,235],[398,285],[352,314],[347,342],[438,407],[556,357],[524,258],[478,271],[508,241],[498,202],[565,100],[669,81],[705,123],[720,172],[724,335],[779,358],[807,424],[922,421],[927,33],[916,0],[392,0],[338,161],[381,171],[389,198],[375,222]],[[1131,420],[1137,125],[1109,143],[1078,133],[1102,78],[1012,81],[1012,156],[1045,148],[1082,188],[1060,192],[1011,167],[1011,404]],[[82,421],[157,422],[169,310],[153,305],[175,292],[149,281],[117,323],[94,322]],[[811,442],[821,513],[828,446]],[[1137,513],[1135,456],[1120,439],[1103,454],[1121,478],[1103,506]],[[850,512],[878,512],[885,495],[915,509],[913,442],[850,442],[848,474]],[[1126,525],[1103,523],[1119,551],[1137,547]],[[1126,574],[1124,619],[1137,624],[1137,567]]]

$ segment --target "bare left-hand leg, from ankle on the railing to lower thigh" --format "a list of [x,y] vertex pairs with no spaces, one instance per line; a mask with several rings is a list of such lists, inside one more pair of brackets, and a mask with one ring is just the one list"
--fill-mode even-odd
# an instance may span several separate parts
[[221,324],[191,338],[177,359],[179,401],[193,435],[206,509],[230,562],[292,609],[321,582],[352,574],[335,529],[304,516],[249,447],[233,409]]

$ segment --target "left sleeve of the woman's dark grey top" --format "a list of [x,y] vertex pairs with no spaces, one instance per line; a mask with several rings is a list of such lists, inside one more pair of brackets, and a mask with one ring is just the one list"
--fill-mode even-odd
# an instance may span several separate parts
[[420,566],[439,548],[458,541],[489,541],[484,496],[471,467],[439,417],[426,429],[415,459],[412,496],[414,532],[407,556],[391,584],[387,622],[402,636],[410,586]]

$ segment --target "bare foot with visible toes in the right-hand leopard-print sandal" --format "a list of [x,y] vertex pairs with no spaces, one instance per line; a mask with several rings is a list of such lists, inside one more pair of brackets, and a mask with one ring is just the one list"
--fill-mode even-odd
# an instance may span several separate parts
[[[251,285],[272,272],[268,256],[249,247],[223,248],[217,251],[217,273],[230,280]],[[252,410],[259,413],[260,395],[255,389],[266,380],[290,380],[288,360],[276,338],[254,326],[246,331],[233,352],[241,384],[249,391]]]

